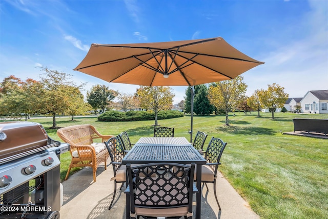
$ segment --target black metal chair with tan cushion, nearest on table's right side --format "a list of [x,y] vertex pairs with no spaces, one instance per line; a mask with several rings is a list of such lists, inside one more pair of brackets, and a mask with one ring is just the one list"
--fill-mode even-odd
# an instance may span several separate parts
[[[220,159],[223,153],[224,148],[226,148],[227,143],[224,143],[220,138],[212,137],[207,150],[205,152],[206,165],[201,166],[201,182],[206,185],[206,188],[209,190],[207,183],[213,183],[214,195],[219,210],[221,210],[219,201],[216,195],[216,177],[218,166],[221,164]],[[194,175],[194,180],[196,180],[196,173]]]

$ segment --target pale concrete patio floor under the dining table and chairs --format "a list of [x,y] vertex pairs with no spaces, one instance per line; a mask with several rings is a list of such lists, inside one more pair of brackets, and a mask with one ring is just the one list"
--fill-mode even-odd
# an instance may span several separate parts
[[[114,181],[110,181],[112,176],[113,168],[111,165],[108,165],[107,170],[104,170],[104,166],[98,167],[97,182],[95,183],[91,168],[84,168],[70,176],[67,181],[63,182],[64,200],[60,209],[60,218],[125,218],[125,187],[119,190],[120,184],[118,184],[114,206],[108,210],[114,190]],[[259,218],[221,174],[218,174],[216,187],[221,212],[219,212],[215,201],[213,184],[208,184],[208,186],[210,191],[207,190],[206,186],[202,186],[202,219]]]

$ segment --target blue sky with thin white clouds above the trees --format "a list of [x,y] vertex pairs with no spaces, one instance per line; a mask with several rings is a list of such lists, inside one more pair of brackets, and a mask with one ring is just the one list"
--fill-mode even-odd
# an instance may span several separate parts
[[[76,84],[105,84],[73,71],[92,43],[128,44],[221,36],[265,62],[242,74],[247,95],[277,83],[290,97],[328,89],[328,1],[0,1],[0,81],[39,79],[37,66],[72,74]],[[187,87],[172,87],[174,103]]]

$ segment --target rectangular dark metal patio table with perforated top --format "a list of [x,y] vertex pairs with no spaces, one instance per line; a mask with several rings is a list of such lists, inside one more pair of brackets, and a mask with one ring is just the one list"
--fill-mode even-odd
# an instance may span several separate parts
[[[122,160],[122,164],[148,164],[163,162],[196,164],[196,182],[197,189],[199,191],[196,193],[196,218],[200,219],[201,165],[206,164],[206,160],[185,137],[141,137]],[[126,218],[130,219],[129,195],[127,194],[126,197]]]

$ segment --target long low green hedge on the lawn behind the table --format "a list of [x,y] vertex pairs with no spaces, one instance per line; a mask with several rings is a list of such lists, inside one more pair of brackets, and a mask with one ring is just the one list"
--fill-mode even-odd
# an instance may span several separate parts
[[[174,110],[162,110],[157,114],[158,120],[165,120],[167,118],[183,117],[183,112]],[[119,112],[110,110],[98,116],[98,121],[101,122],[127,122],[127,121],[146,121],[155,120],[155,113],[153,111],[128,111]]]

